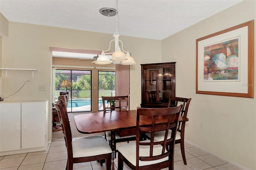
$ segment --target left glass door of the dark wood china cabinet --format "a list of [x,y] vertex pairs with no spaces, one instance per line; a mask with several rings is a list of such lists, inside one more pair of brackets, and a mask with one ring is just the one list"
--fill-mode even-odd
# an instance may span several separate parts
[[144,92],[143,92],[143,102],[146,103],[156,103],[156,81],[158,77],[156,76],[156,68],[144,69]]

